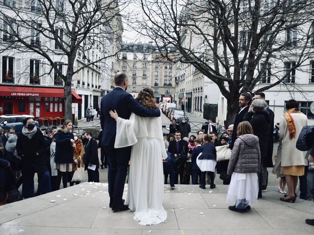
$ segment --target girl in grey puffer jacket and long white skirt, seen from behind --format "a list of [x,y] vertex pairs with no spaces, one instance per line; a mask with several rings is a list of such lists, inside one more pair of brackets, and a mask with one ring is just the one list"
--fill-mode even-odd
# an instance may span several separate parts
[[251,209],[249,203],[258,199],[261,152],[259,138],[253,135],[248,121],[239,123],[236,134],[238,138],[232,149],[227,171],[228,175],[232,175],[227,202],[235,202],[235,206],[230,206],[229,210],[247,212]]

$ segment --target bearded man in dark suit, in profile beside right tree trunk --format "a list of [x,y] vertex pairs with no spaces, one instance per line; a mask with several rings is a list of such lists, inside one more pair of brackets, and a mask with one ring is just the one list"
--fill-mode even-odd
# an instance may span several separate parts
[[249,111],[251,102],[252,102],[252,96],[250,93],[242,93],[240,95],[239,97],[240,109],[238,110],[237,115],[235,116],[234,131],[232,133],[232,141],[230,144],[230,149],[233,149],[235,140],[237,138],[237,135],[236,135],[237,126],[241,121],[243,121],[244,115]]

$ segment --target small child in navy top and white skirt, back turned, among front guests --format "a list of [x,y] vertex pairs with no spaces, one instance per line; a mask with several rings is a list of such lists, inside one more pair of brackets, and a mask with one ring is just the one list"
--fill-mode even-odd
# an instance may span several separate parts
[[210,188],[215,188],[215,168],[216,168],[216,149],[212,142],[212,137],[205,135],[204,144],[201,147],[202,153],[197,157],[196,164],[202,171],[200,188],[205,189],[206,185],[206,171],[209,172]]

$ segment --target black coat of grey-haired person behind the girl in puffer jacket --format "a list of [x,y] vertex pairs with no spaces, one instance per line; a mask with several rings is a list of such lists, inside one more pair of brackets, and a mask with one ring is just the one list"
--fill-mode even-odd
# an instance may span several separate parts
[[249,121],[252,125],[254,135],[259,138],[261,160],[263,166],[273,167],[272,156],[268,155],[269,137],[270,137],[270,116],[268,111],[259,113],[247,112],[243,118],[244,121]]

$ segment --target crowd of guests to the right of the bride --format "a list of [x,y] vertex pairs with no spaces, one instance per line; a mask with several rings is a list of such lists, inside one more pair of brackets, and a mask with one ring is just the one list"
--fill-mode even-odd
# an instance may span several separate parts
[[[280,200],[293,203],[297,196],[311,200],[313,185],[308,184],[307,174],[309,163],[310,167],[314,164],[314,147],[312,152],[296,148],[298,136],[302,128],[308,125],[308,119],[299,111],[298,102],[294,99],[288,100],[285,108],[279,125],[281,141],[277,153],[281,155],[281,174],[277,174],[278,190],[285,194]],[[168,152],[168,158],[163,161],[165,184],[168,183],[169,175],[172,189],[179,182],[198,184],[204,189],[206,185],[215,188],[215,174],[218,173],[223,184],[229,185],[227,201],[235,201],[235,205],[229,209],[249,211],[249,203],[267,192],[267,167],[273,167],[274,113],[268,108],[265,94],[241,94],[234,123],[219,135],[210,119],[197,132],[197,136],[190,135],[189,138],[190,133],[186,133],[187,129],[182,128],[182,125],[173,120],[164,142]],[[307,144],[313,146],[314,136],[308,139],[311,141]],[[231,150],[231,157],[229,161],[216,163],[215,147],[222,145],[227,145]],[[300,193],[297,195],[298,181]],[[314,225],[314,220],[308,220],[307,223]]]

